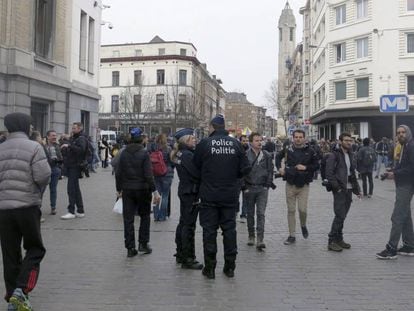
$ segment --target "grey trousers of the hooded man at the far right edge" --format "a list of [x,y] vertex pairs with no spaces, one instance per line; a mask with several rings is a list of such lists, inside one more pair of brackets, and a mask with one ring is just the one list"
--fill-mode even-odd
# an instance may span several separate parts
[[414,247],[413,220],[411,217],[411,199],[414,186],[404,185],[395,188],[394,211],[391,216],[391,233],[388,247],[396,250],[400,238],[404,245]]

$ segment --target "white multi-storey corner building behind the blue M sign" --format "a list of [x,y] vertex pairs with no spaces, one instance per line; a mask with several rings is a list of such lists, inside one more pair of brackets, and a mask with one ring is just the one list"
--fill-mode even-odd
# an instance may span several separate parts
[[392,116],[379,109],[389,94],[409,97],[396,122],[414,128],[414,1],[310,0],[302,12],[318,137],[393,137]]

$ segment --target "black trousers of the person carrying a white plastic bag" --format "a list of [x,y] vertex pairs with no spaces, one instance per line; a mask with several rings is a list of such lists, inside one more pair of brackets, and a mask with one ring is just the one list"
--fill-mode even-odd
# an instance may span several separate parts
[[136,248],[135,245],[135,215],[140,216],[138,242],[149,242],[151,192],[149,190],[122,191],[122,216],[124,218],[125,248]]

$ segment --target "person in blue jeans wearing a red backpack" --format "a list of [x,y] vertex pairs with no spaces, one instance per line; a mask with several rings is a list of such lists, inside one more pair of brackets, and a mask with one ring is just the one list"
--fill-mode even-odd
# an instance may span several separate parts
[[167,136],[160,134],[156,137],[155,143],[149,148],[150,153],[160,151],[164,160],[167,171],[164,175],[155,175],[155,186],[161,195],[161,201],[154,205],[154,221],[167,220],[168,197],[171,190],[172,180],[174,178],[174,166],[170,159],[171,147],[167,143]]

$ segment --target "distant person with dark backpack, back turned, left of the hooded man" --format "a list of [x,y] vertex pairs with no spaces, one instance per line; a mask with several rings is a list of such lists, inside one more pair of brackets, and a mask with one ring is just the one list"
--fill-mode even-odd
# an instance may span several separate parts
[[[374,191],[374,182],[372,180],[372,172],[374,170],[374,164],[377,161],[377,155],[374,148],[370,145],[370,139],[364,138],[362,141],[363,147],[361,147],[357,154],[357,171],[361,174],[362,178],[362,191],[364,197],[371,198]],[[369,191],[367,192],[367,179],[369,182]]]

